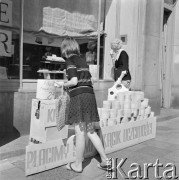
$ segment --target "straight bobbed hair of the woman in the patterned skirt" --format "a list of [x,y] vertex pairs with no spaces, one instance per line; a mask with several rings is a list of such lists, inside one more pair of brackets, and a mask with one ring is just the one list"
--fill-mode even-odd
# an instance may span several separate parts
[[80,47],[74,38],[65,38],[61,44],[62,57],[69,58],[72,55],[80,55]]

